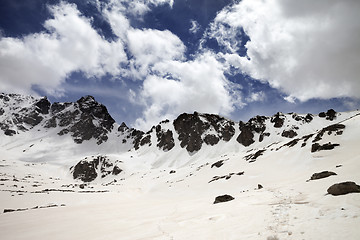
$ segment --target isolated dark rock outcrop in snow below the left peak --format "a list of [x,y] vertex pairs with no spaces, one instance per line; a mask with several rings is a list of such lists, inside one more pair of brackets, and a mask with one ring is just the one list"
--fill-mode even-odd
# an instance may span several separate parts
[[109,174],[118,175],[122,172],[121,168],[114,165],[106,156],[97,156],[92,159],[85,158],[70,168],[73,178],[83,182],[91,182],[99,175],[101,178]]

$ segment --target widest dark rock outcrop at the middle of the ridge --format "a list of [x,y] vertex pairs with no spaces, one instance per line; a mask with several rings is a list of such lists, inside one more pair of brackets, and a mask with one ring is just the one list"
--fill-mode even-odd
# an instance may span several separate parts
[[[188,152],[201,149],[202,144],[214,145],[220,139],[229,141],[235,134],[234,122],[214,114],[181,114],[174,120],[175,131],[179,135],[180,146]],[[212,131],[212,134],[204,133]],[[215,133],[213,133],[215,132]]]

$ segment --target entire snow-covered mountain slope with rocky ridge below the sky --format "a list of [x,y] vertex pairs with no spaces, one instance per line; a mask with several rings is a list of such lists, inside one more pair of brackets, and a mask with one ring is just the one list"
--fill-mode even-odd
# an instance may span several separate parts
[[360,234],[360,111],[183,113],[143,132],[91,96],[0,94],[0,128],[4,239]]

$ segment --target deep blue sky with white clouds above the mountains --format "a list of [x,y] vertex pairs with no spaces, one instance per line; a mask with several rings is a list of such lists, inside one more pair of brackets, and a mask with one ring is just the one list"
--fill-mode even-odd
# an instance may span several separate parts
[[360,107],[358,0],[1,0],[0,92],[93,95],[148,129]]

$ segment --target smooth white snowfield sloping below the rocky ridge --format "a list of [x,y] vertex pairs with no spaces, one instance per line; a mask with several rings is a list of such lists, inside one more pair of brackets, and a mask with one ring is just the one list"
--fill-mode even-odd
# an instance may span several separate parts
[[[343,116],[341,135],[323,136],[321,143],[340,144],[332,150],[311,152],[313,137],[304,147],[275,141],[244,148],[232,139],[195,154],[97,149],[122,161],[124,171],[90,183],[74,180],[69,168],[97,154],[91,144],[74,150],[66,137],[62,147],[45,135],[6,138],[1,239],[360,239],[360,194],[327,194],[335,183],[360,184],[356,114]],[[266,151],[246,160],[259,149]],[[307,181],[321,171],[337,175]],[[213,204],[224,194],[234,200]]]

